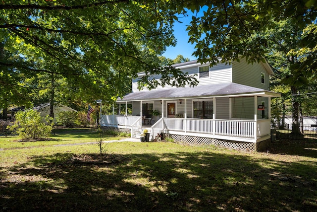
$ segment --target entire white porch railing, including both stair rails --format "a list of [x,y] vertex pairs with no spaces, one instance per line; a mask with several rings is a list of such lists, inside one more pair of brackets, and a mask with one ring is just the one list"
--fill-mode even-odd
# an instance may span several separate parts
[[270,139],[270,120],[221,120],[160,118],[152,126],[142,125],[140,116],[102,116],[102,126],[130,129],[137,137],[144,127],[155,138],[157,134],[203,137],[229,141],[260,142]]

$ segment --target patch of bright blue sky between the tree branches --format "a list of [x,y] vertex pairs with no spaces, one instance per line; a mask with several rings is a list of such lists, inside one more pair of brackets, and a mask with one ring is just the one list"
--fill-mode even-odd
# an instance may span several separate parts
[[177,44],[175,47],[167,47],[163,56],[165,58],[175,59],[177,55],[183,55],[184,58],[189,58],[191,61],[196,60],[194,56],[192,56],[193,52],[195,51],[195,44],[188,43],[188,32],[186,31],[187,26],[189,25],[192,20],[191,12],[188,12],[187,17],[181,17],[179,15],[179,21],[183,23],[176,22],[174,24],[174,36],[177,39]]

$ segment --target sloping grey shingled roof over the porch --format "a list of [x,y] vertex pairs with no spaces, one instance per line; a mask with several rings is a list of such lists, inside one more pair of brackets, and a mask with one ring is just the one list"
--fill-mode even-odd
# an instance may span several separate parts
[[179,87],[169,89],[156,89],[150,91],[138,91],[125,95],[118,102],[135,100],[159,100],[159,99],[184,99],[184,98],[206,98],[224,96],[265,96],[280,97],[278,93],[267,91],[237,83],[221,83],[210,85],[199,85],[196,87]]

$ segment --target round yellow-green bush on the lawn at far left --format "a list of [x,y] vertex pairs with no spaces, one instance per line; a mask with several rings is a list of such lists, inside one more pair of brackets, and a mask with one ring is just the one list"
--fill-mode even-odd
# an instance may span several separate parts
[[15,123],[8,126],[23,140],[38,140],[48,138],[53,130],[53,119],[49,116],[41,117],[39,112],[32,109],[19,111],[15,115]]

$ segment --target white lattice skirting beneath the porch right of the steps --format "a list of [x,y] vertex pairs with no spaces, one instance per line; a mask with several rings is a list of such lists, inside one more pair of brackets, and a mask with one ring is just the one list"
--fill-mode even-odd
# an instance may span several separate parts
[[164,134],[164,137],[169,137],[174,139],[174,141],[187,143],[191,145],[216,145],[243,151],[266,151],[270,146],[270,139],[254,143],[175,134]]

